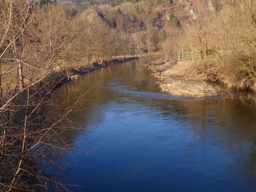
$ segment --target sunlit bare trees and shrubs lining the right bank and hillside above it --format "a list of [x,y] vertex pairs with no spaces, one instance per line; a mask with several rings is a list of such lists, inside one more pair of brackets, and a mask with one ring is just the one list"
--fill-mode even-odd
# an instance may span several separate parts
[[176,70],[176,77],[256,91],[255,8],[246,0],[185,1],[186,14],[173,12],[177,20],[161,43],[164,62],[155,65],[165,65],[162,75]]

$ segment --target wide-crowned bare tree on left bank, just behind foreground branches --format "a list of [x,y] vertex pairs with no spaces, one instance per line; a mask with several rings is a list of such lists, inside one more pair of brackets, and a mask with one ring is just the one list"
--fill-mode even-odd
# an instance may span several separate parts
[[67,62],[75,58],[70,45],[74,44],[76,38],[67,13],[61,6],[45,6],[40,9],[37,22],[40,31],[38,37],[43,48],[41,54],[45,61],[53,68],[55,64],[67,68]]

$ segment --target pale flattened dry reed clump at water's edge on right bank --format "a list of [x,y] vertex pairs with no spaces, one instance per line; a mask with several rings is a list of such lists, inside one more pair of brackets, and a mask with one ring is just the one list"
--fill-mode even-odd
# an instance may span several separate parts
[[162,83],[159,87],[165,93],[186,97],[215,97],[222,95],[223,93],[223,89],[220,86],[204,81],[194,82],[175,80],[168,83]]

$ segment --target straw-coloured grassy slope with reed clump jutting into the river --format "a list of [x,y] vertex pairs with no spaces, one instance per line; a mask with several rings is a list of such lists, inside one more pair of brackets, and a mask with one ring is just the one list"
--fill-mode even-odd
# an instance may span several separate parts
[[191,64],[182,61],[165,62],[164,59],[156,59],[146,64],[153,76],[159,79],[159,87],[164,93],[185,97],[217,97],[225,94],[218,84],[207,83]]

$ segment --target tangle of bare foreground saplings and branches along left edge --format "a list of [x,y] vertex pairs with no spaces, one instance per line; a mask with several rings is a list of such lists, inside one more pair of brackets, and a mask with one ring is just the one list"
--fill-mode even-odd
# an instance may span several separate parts
[[[60,136],[81,129],[69,114],[79,106],[82,97],[72,100],[68,107],[56,100],[54,104],[50,102],[52,89],[67,74],[52,69],[55,57],[61,59],[56,52],[53,54],[56,46],[46,43],[52,54],[48,55],[51,62],[45,62],[46,44],[37,38],[42,31],[37,28],[34,3],[0,2],[0,191],[48,191],[46,183],[65,188],[53,176],[43,173],[39,165],[42,161],[54,163],[54,158],[70,151],[72,146]],[[59,43],[52,38],[48,42]],[[19,64],[23,65],[22,86],[21,79],[17,79]]]

